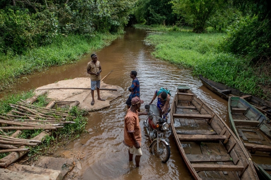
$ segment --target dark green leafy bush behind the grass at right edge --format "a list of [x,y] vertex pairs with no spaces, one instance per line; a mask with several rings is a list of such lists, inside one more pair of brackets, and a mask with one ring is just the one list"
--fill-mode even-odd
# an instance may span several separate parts
[[271,57],[271,24],[268,19],[260,21],[257,16],[238,18],[228,30],[224,47],[235,54],[252,60]]

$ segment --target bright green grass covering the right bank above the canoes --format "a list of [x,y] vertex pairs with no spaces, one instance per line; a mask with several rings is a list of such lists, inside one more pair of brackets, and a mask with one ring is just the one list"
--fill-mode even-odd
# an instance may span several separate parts
[[245,93],[269,99],[271,94],[262,89],[262,83],[268,81],[264,74],[256,75],[257,70],[249,65],[249,61],[223,51],[221,45],[225,33],[196,34],[192,29],[178,27],[142,26],[164,33],[151,34],[145,41],[154,46],[156,58],[169,61],[178,66],[190,68],[194,76],[204,77]]

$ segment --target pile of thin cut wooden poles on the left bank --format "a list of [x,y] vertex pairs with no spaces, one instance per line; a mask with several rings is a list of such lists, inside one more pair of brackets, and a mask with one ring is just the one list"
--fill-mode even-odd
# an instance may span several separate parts
[[42,143],[38,140],[29,140],[10,137],[7,130],[56,130],[64,127],[64,124],[75,123],[66,121],[67,117],[75,118],[66,111],[37,107],[23,100],[17,104],[9,104],[13,110],[8,114],[0,114],[0,153],[28,151],[29,148],[18,148],[20,146],[36,146]]

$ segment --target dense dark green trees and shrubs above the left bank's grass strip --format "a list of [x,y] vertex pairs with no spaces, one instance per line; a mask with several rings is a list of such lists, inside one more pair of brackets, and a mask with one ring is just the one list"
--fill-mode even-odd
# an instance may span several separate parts
[[128,22],[133,0],[0,1],[0,50],[23,53],[56,36],[116,33]]

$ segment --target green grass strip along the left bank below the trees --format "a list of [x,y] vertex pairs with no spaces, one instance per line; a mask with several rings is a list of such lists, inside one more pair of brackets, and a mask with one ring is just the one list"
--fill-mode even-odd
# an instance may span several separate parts
[[50,66],[60,66],[79,60],[82,55],[92,53],[109,45],[118,35],[96,34],[95,36],[59,35],[53,43],[29,49],[22,55],[7,55],[0,52],[0,90],[8,89],[18,81],[18,77]]

